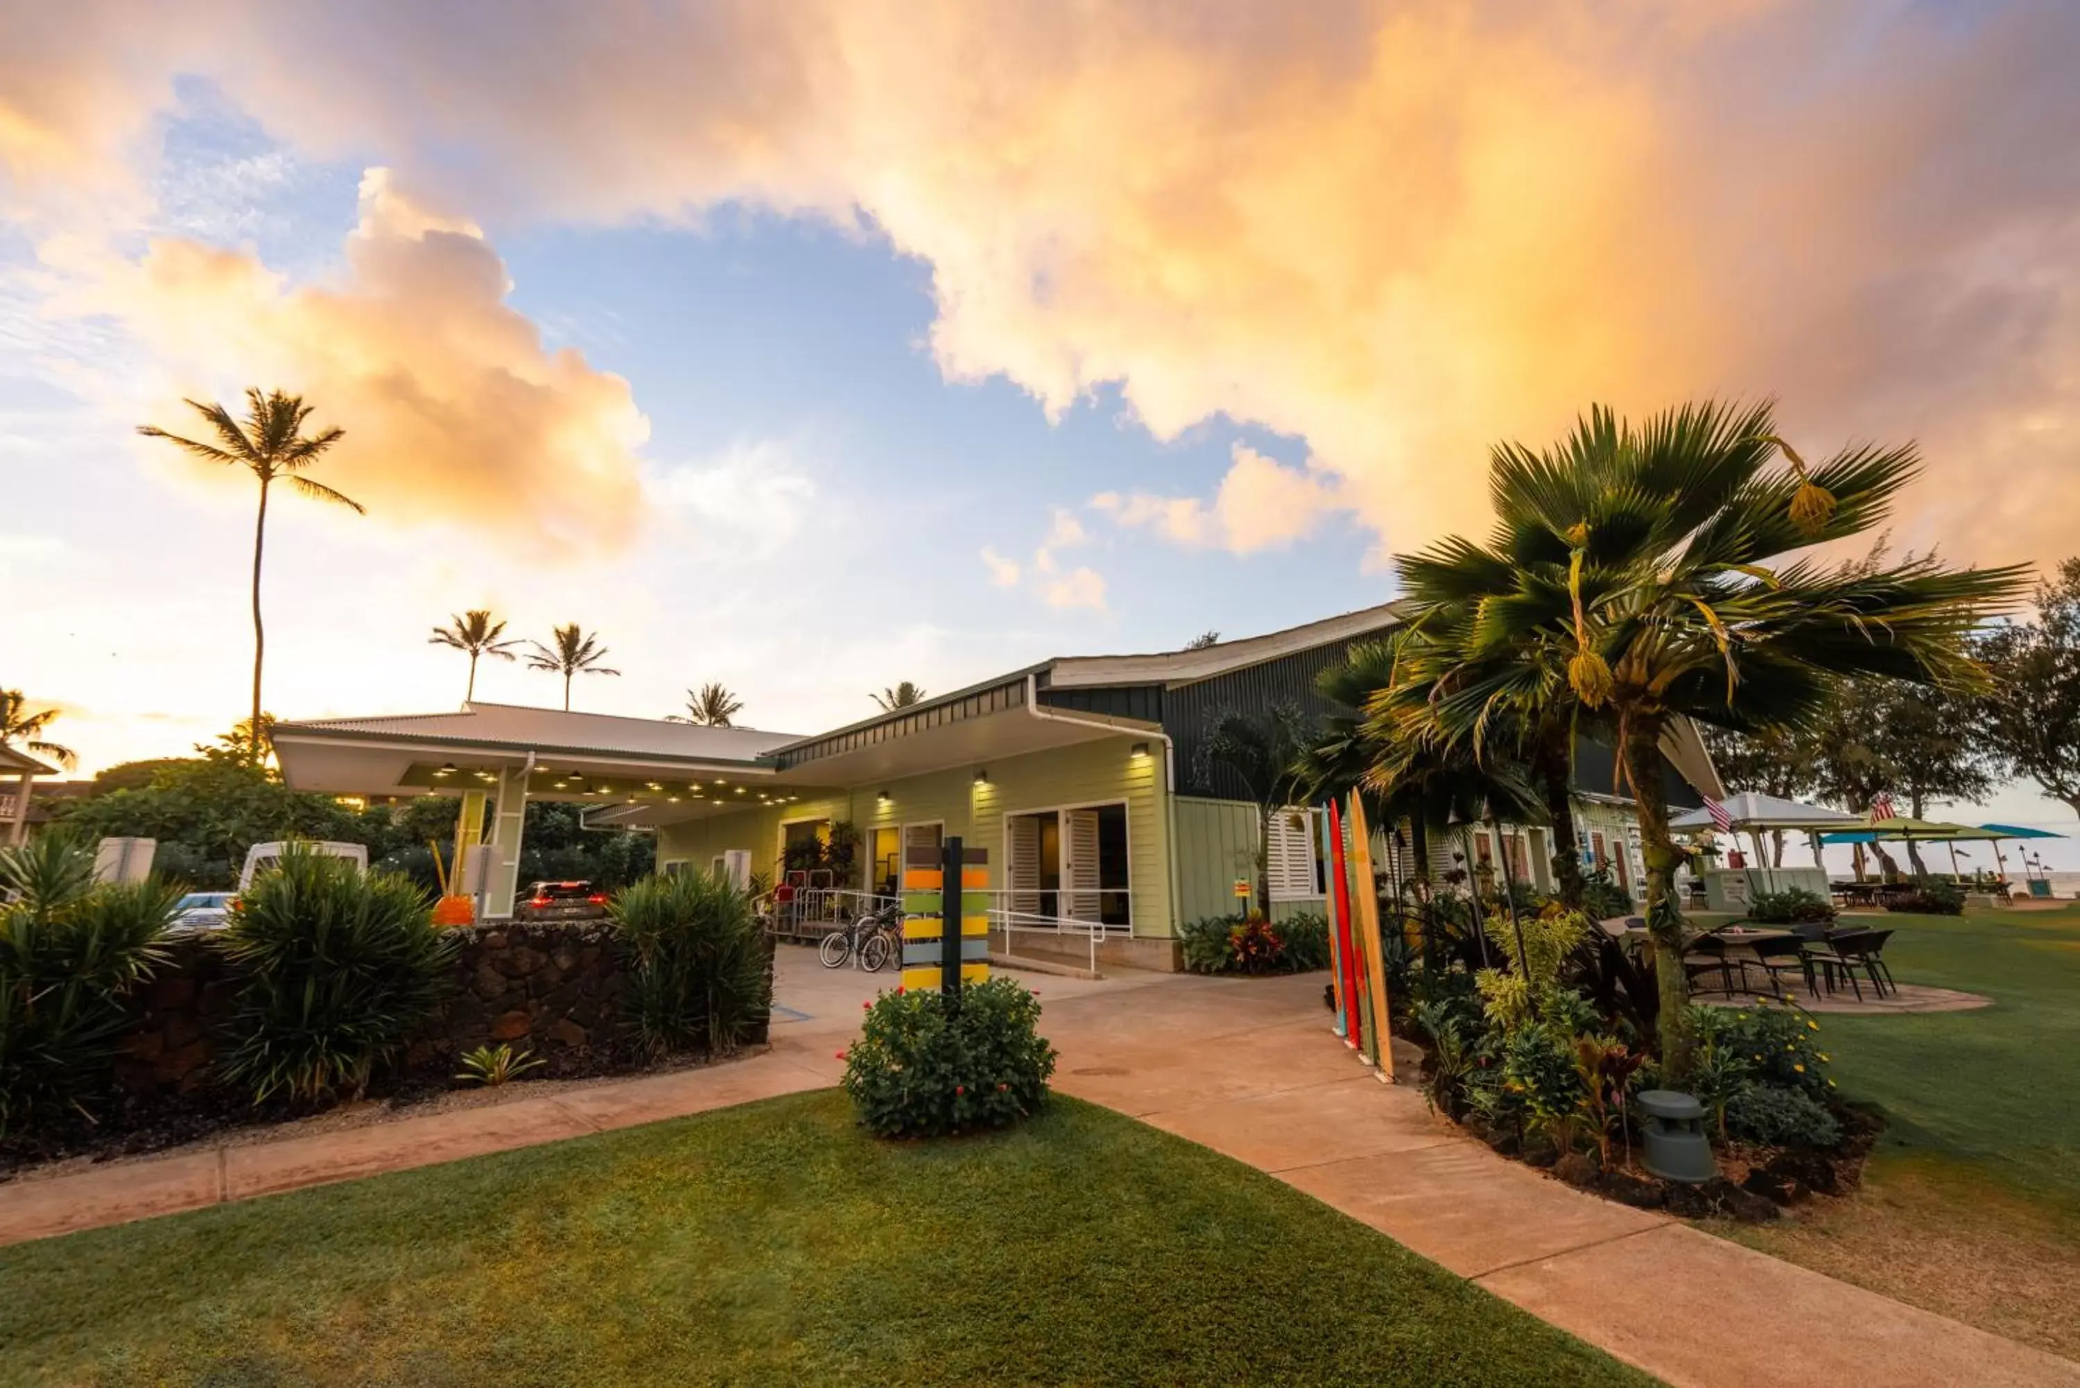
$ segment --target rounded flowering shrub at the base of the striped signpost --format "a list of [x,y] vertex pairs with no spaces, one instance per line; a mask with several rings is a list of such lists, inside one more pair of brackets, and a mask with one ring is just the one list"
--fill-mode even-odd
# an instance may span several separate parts
[[884,1138],[1003,1128],[1046,1099],[1055,1047],[1038,1032],[1040,1001],[1011,978],[961,988],[882,993],[844,1055],[844,1093]]

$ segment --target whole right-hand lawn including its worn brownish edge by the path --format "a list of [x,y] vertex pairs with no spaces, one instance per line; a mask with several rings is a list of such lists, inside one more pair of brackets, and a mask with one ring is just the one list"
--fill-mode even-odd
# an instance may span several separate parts
[[1891,1124],[1864,1188],[1722,1232],[2080,1359],[2080,909],[1882,924],[1903,982],[1995,1005],[1820,1018],[1843,1093]]

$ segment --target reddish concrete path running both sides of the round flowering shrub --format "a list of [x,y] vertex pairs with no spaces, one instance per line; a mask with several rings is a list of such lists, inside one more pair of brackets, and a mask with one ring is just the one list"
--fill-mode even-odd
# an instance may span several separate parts
[[[874,982],[784,951],[768,1055],[0,1186],[0,1242],[834,1084]],[[1227,1153],[1670,1384],[2072,1384],[2080,1365],[1489,1153],[1327,1032],[1321,976],[1032,978],[1057,1086]],[[1325,1253],[1327,1255],[1327,1253]]]

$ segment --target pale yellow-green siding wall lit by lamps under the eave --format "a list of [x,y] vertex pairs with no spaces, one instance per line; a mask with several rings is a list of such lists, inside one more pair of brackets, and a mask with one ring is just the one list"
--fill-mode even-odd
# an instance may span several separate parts
[[[1136,753],[1136,745],[1148,751]],[[988,782],[976,766],[853,787],[792,805],[668,824],[657,830],[657,864],[707,868],[726,849],[747,849],[755,872],[772,872],[784,826],[797,820],[849,820],[861,834],[861,859],[876,828],[942,822],[967,847],[990,851],[990,884],[1005,886],[1005,816],[1036,809],[1125,803],[1127,899],[1138,936],[1175,934],[1169,816],[1163,795],[1163,743],[1142,735],[1104,737],[1071,747],[990,762]],[[813,764],[809,766],[813,772]],[[882,801],[882,791],[888,799]],[[1248,809],[1248,807],[1244,807]]]

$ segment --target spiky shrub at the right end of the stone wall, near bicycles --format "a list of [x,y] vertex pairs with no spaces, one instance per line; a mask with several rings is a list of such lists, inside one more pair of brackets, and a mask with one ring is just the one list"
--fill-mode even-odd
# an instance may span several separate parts
[[651,1053],[726,1051],[772,1016],[772,947],[751,895],[726,876],[649,876],[618,891],[607,914],[630,953],[630,1018]]

